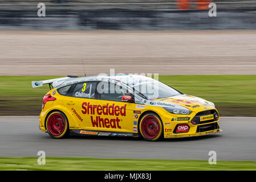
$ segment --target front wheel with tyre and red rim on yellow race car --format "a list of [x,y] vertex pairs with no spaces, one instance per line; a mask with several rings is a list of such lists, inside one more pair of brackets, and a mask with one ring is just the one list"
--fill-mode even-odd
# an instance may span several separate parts
[[140,119],[140,134],[144,139],[157,141],[163,133],[162,121],[155,113],[147,113]]

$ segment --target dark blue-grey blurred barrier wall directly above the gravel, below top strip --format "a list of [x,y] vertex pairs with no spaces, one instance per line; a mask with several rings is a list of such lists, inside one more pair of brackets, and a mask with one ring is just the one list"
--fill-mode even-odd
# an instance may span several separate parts
[[35,11],[0,11],[1,29],[33,30],[205,30],[256,29],[256,11],[218,10],[50,10],[46,17]]

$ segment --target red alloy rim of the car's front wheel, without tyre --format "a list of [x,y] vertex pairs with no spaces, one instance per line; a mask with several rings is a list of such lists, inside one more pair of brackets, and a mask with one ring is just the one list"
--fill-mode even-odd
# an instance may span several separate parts
[[160,132],[159,121],[151,115],[144,118],[141,123],[141,131],[147,138],[156,138]]

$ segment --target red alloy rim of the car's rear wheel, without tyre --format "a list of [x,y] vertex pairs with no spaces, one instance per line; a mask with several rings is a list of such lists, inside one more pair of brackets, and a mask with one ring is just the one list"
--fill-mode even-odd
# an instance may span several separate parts
[[60,114],[52,114],[48,119],[48,130],[52,135],[58,136],[65,129],[65,120]]

